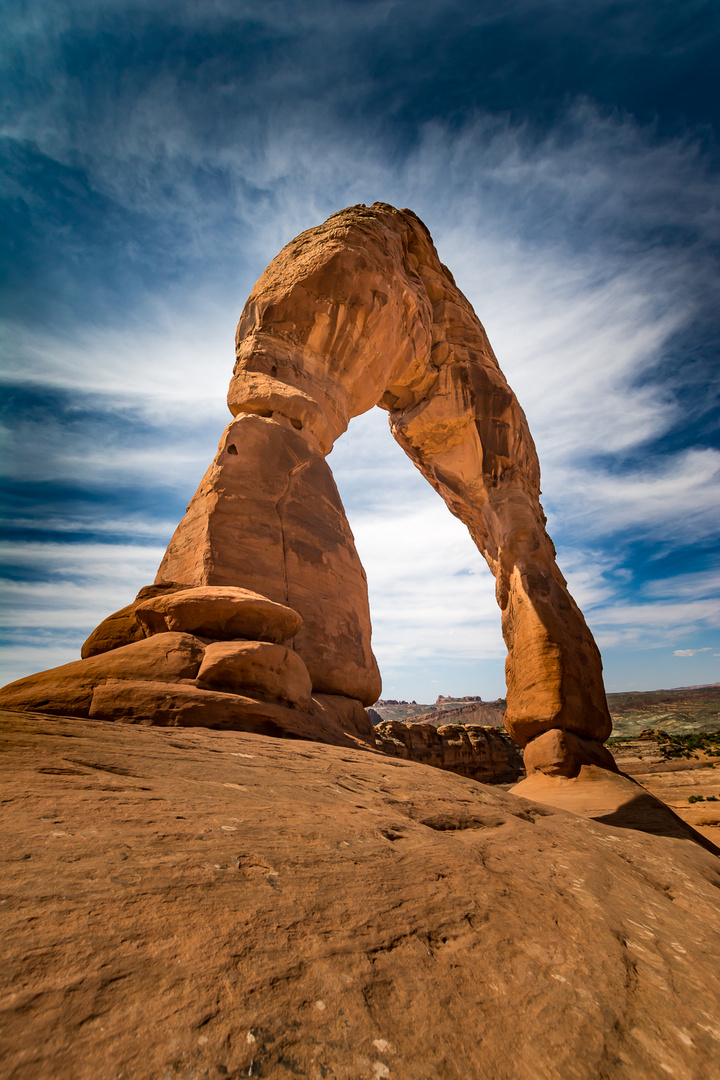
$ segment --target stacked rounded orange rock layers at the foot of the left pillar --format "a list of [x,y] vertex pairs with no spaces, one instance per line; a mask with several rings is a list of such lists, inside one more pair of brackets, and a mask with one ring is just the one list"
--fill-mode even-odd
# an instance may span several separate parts
[[94,632],[83,659],[21,679],[1,698],[62,716],[372,746],[359,701],[313,691],[288,647],[301,625],[297,611],[246,589],[142,590]]

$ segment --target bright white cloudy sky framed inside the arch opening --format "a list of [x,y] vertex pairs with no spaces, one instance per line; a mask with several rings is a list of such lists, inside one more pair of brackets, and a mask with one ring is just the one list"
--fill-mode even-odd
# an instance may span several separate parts
[[382,697],[505,697],[494,579],[465,528],[392,438],[386,411],[351,420],[327,462],[368,581]]

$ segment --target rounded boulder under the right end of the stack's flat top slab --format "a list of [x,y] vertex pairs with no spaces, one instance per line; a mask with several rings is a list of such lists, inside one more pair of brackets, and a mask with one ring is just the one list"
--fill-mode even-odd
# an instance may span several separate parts
[[198,686],[257,694],[307,708],[312,698],[308,669],[297,652],[267,642],[216,642],[205,649]]

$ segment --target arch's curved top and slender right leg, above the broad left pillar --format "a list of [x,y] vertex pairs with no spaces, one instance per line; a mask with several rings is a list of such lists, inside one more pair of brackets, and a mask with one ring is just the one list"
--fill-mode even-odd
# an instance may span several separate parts
[[511,734],[604,740],[600,656],[545,530],[525,413],[422,221],[375,203],[301,233],[253,289],[236,356],[233,415],[289,421],[322,454],[352,417],[388,410],[495,576]]

